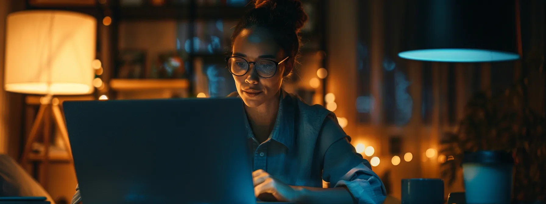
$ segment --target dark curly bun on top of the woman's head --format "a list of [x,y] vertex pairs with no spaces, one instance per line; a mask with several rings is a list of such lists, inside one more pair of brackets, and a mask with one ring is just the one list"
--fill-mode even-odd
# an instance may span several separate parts
[[290,26],[299,32],[307,22],[307,14],[300,0],[256,0],[254,8],[269,10],[269,20],[279,26]]

